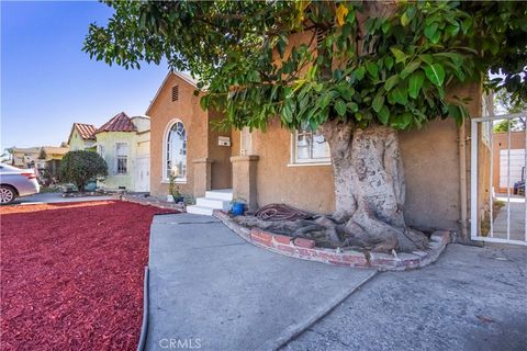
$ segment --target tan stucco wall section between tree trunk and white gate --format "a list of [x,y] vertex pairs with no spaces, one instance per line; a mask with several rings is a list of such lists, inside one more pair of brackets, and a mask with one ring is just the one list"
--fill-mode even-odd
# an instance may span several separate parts
[[406,181],[404,215],[419,228],[458,229],[460,218],[458,127],[435,121],[399,134]]

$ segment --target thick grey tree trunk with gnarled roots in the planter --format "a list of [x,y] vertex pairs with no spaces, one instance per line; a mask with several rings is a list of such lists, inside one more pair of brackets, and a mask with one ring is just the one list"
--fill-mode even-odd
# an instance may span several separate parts
[[354,129],[348,123],[326,122],[335,177],[336,212],[345,222],[347,241],[373,251],[424,249],[426,236],[404,220],[405,184],[397,134],[372,125]]

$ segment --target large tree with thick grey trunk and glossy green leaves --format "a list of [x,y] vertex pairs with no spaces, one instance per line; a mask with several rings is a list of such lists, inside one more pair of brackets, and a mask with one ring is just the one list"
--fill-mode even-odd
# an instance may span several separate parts
[[[225,127],[321,128],[345,237],[373,250],[423,248],[404,220],[397,131],[467,117],[445,89],[490,84],[526,99],[523,2],[111,1],[85,50],[108,64],[188,70]],[[300,38],[303,36],[303,38]],[[343,237],[339,238],[340,240]]]

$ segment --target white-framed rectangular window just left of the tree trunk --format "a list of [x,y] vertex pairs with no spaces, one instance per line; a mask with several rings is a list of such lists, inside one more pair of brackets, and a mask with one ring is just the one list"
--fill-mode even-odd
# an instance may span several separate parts
[[329,145],[318,131],[300,129],[292,137],[292,163],[329,163]]

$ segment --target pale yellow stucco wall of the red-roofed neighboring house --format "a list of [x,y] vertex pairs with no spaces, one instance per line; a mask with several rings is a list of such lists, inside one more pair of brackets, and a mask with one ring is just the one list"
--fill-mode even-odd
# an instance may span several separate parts
[[[128,144],[127,173],[115,174],[115,143]],[[135,132],[103,132],[97,134],[97,145],[104,146],[103,158],[108,165],[108,176],[99,186],[108,190],[117,190],[125,186],[128,191],[134,191],[135,186],[135,163],[137,156],[137,135]]]

